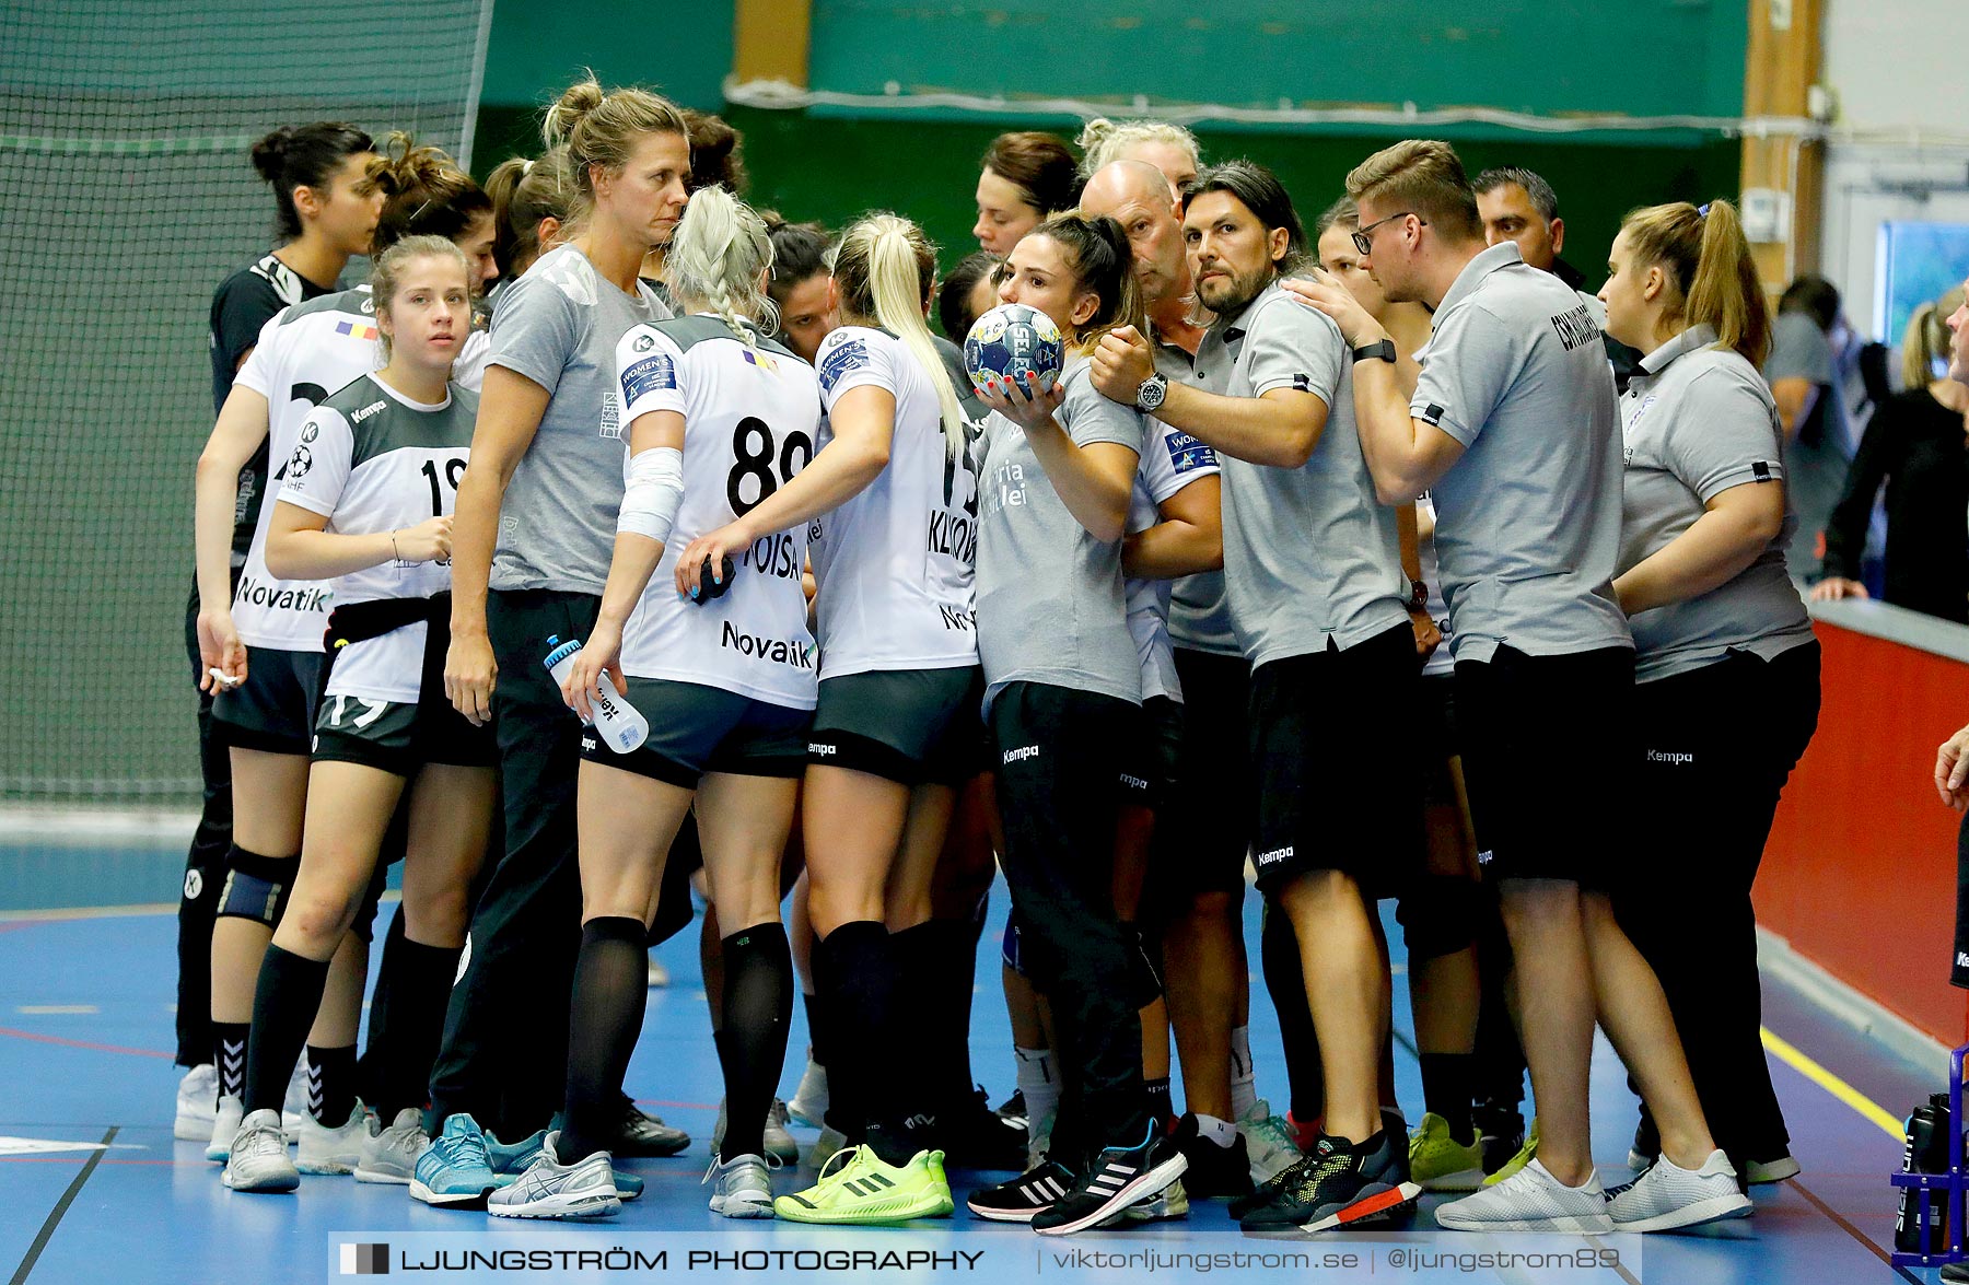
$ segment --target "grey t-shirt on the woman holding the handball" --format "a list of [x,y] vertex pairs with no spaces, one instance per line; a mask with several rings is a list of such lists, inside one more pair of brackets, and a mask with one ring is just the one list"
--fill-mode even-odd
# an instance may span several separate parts
[[[1071,358],[1055,417],[1077,447],[1142,453],[1142,417],[1095,392]],[[984,708],[1008,683],[1049,683],[1142,703],[1142,663],[1128,634],[1120,541],[1099,541],[1067,512],[1026,431],[984,419],[979,453],[979,659]]]

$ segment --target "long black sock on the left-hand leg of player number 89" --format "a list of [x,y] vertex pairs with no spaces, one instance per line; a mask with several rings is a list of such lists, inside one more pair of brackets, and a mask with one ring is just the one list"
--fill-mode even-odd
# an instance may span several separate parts
[[620,1132],[622,1076],[650,998],[642,941],[642,919],[616,915],[581,925],[567,1021],[567,1116],[555,1145],[563,1165],[608,1151]]

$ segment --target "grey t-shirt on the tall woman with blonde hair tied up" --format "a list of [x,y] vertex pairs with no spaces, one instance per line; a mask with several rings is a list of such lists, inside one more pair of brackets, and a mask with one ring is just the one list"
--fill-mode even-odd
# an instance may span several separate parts
[[632,325],[667,317],[644,281],[630,299],[573,246],[500,291],[486,364],[526,376],[549,399],[506,484],[492,588],[603,592],[622,508],[614,346]]

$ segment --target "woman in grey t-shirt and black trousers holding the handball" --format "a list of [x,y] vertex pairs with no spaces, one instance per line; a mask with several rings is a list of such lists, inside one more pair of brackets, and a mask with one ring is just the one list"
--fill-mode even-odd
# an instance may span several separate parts
[[[984,718],[1026,964],[1053,1000],[1077,1092],[1061,1102],[1051,1157],[973,1193],[969,1206],[1061,1236],[1183,1171],[1152,1128],[1134,943],[1112,891],[1124,748],[1142,710],[1120,545],[1144,423],[1087,374],[1103,335],[1144,323],[1128,236],[1112,218],[1040,224],[1006,260],[998,297],[1016,307],[988,313],[975,331],[983,342],[967,344],[992,409],[979,439]],[[1046,360],[1055,327],[1057,378]]]

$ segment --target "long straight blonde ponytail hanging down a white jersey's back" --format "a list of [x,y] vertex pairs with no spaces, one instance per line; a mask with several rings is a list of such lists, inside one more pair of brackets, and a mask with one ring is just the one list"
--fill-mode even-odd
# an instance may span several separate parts
[[937,392],[943,451],[955,460],[965,449],[965,413],[923,315],[935,274],[937,248],[900,214],[864,216],[843,234],[835,256],[843,319],[874,321],[910,348]]

